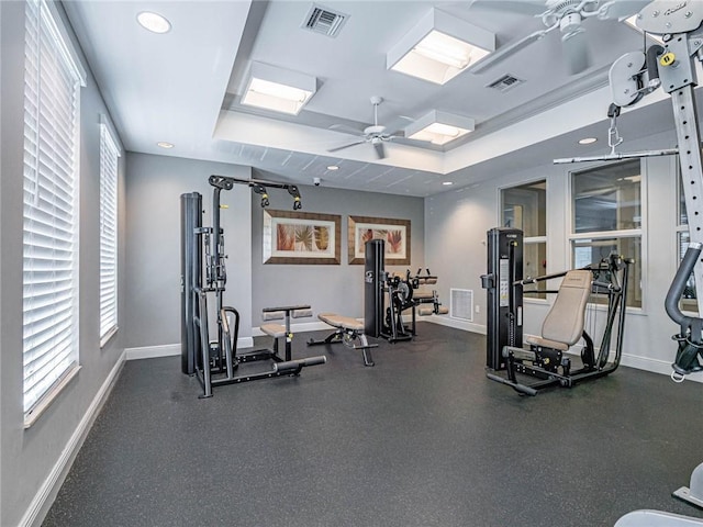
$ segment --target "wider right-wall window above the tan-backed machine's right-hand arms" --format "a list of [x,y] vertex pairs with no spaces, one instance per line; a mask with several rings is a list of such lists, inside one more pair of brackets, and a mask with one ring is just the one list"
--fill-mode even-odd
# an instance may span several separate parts
[[641,170],[639,159],[571,175],[574,268],[612,253],[634,258],[627,305],[641,307]]

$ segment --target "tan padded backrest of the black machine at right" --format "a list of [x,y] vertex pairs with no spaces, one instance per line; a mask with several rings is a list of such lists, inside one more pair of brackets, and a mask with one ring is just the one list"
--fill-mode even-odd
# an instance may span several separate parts
[[592,283],[591,271],[578,269],[566,273],[554,305],[542,325],[542,338],[569,346],[581,338]]

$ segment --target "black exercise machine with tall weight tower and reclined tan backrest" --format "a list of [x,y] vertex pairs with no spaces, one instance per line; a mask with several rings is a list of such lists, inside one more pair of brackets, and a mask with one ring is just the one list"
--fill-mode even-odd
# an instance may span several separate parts
[[[615,371],[623,351],[627,279],[633,260],[611,255],[582,269],[523,280],[522,231],[496,227],[488,232],[488,240],[489,273],[481,277],[489,310],[487,377],[521,394],[536,395],[544,388],[571,388]],[[523,288],[555,278],[562,278],[558,291],[539,291],[557,293],[542,335],[527,338],[529,348],[525,349],[522,300],[529,291]],[[593,338],[585,330],[585,312],[592,296],[602,296],[607,306],[598,356]],[[615,351],[610,360],[614,333]],[[581,339],[581,367],[573,368],[567,351]],[[499,370],[505,370],[506,375],[498,374]],[[536,381],[523,382],[518,375]]]

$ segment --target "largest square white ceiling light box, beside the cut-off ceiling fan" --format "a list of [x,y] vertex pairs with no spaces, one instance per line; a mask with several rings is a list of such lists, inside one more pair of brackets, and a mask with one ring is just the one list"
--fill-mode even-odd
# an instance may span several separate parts
[[386,66],[444,85],[493,51],[493,33],[433,9],[388,52]]

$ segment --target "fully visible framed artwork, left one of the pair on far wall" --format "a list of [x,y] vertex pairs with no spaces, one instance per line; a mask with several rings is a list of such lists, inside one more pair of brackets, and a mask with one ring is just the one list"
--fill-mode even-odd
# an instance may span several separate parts
[[264,264],[339,265],[342,216],[264,211]]

